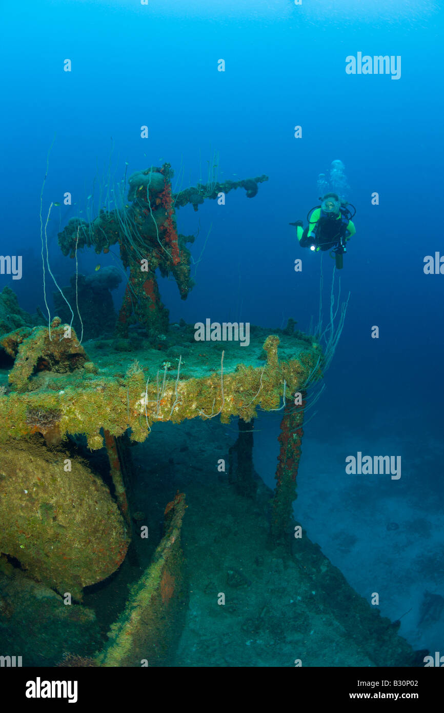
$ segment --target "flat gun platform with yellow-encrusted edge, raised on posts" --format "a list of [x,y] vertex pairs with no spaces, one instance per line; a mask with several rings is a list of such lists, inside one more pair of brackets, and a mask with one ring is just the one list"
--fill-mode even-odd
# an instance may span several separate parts
[[258,406],[279,409],[285,397],[321,377],[319,344],[301,332],[251,327],[249,344],[196,342],[192,325],[173,325],[148,342],[110,339],[79,345],[55,319],[47,327],[6,335],[1,346],[15,359],[0,381],[0,442],[42,434],[58,443],[85,434],[103,447],[101,429],[144,441],[155,421],[230,416],[252,419]]

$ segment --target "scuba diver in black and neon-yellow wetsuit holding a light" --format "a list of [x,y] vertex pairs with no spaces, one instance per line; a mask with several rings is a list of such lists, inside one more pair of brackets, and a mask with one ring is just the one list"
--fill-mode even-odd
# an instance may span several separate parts
[[[321,205],[311,208],[307,215],[308,227],[303,229],[304,222],[296,220],[290,225],[296,226],[296,233],[301,247],[310,250],[331,250],[331,257],[336,260],[336,267],[344,267],[344,252],[347,252],[346,242],[356,233],[351,218],[356,215],[356,208],[351,203],[339,200],[337,193],[326,193],[319,198]],[[348,206],[353,208],[353,213]]]

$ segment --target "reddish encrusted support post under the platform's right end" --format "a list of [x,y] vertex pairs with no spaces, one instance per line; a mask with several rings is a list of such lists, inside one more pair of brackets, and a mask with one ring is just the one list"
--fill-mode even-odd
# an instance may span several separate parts
[[272,537],[284,540],[289,537],[292,523],[292,505],[296,500],[296,475],[301,457],[301,441],[304,431],[304,406],[306,392],[302,392],[302,403],[295,407],[290,401],[284,408],[281,433],[278,441],[279,451],[276,480],[277,486],[272,501]]

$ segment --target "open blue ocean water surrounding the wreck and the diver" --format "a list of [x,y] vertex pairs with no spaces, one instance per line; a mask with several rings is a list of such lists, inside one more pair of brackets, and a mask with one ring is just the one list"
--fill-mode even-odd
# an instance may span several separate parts
[[[356,207],[340,275],[350,300],[306,426],[295,514],[358,593],[379,593],[384,615],[411,610],[400,632],[415,648],[442,648],[444,617],[420,622],[425,592],[444,597],[444,267],[424,272],[426,256],[444,255],[442,6],[25,0],[1,16],[1,252],[23,255],[23,276],[0,275],[0,288],[12,287],[30,312],[44,308],[46,173],[43,221],[50,203],[61,203],[48,221],[49,261],[65,285],[73,261],[61,255],[57,233],[87,216],[94,181],[113,185],[125,165],[130,175],[167,161],[179,190],[207,180],[215,162],[221,181],[269,180],[251,200],[238,190],[223,206],[177,211],[180,232],[199,231],[196,261],[205,249],[185,302],[160,279],[170,321],[210,317],[272,331],[292,317],[308,331],[319,311],[321,255],[299,247],[289,223],[306,225],[319,205],[319,174],[341,160]],[[346,58],[358,53],[401,58],[401,76],[346,73]],[[63,70],[67,58],[71,71]],[[66,191],[76,205],[63,206]],[[115,265],[93,250],[78,260],[85,274]],[[326,320],[333,267],[324,254]],[[123,285],[113,297],[118,307]],[[254,466],[273,486],[279,415],[261,414],[256,428]],[[346,457],[358,452],[401,456],[401,478],[347,474]]]

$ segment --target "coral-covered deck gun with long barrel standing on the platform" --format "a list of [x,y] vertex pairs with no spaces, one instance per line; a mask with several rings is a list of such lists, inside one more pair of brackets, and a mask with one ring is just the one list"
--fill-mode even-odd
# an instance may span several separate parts
[[117,332],[122,337],[128,336],[134,322],[142,324],[148,334],[167,332],[168,310],[160,299],[156,270],[162,277],[174,277],[182,299],[192,289],[187,243],[194,242],[195,236],[177,232],[176,208],[191,204],[197,210],[205,200],[224,200],[237,188],[254,198],[259,183],[268,180],[266,175],[224,183],[212,180],[174,194],[172,175],[169,163],[134,173],[129,178],[128,203],[115,210],[100,208],[90,223],[72,218],[58,235],[63,255],[71,257],[83,247],[106,254],[112,245],[119,245],[123,267],[130,271],[118,315]]

